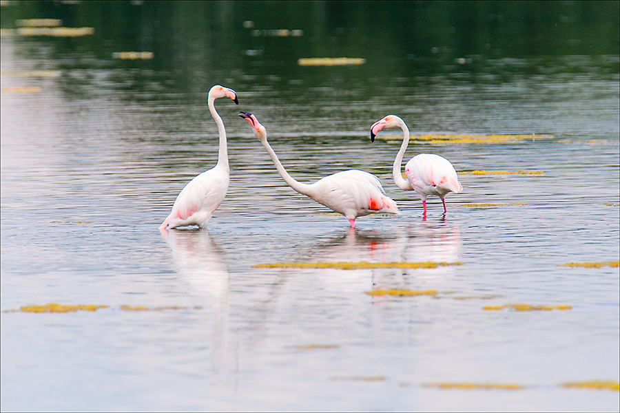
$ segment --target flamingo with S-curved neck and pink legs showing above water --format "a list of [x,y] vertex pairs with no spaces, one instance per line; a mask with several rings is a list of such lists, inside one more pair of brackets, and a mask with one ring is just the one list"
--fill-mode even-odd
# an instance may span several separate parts
[[375,141],[375,136],[384,127],[400,127],[402,129],[402,145],[394,160],[392,171],[397,187],[405,191],[413,190],[420,195],[422,206],[424,206],[424,218],[426,218],[426,197],[428,195],[437,195],[442,199],[445,214],[447,212],[446,195],[449,192],[459,193],[463,191],[457,173],[450,161],[432,153],[420,153],[411,158],[405,165],[407,179],[404,180],[400,168],[402,157],[407,149],[407,145],[409,145],[409,128],[405,125],[404,120],[398,116],[388,115],[375,122],[371,127],[371,142]]

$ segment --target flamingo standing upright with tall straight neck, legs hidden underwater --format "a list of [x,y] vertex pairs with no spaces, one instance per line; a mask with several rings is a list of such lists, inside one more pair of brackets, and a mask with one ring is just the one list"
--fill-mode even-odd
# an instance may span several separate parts
[[220,134],[220,149],[218,163],[215,167],[200,173],[185,185],[176,197],[172,212],[159,226],[160,231],[176,228],[177,226],[198,225],[205,228],[213,212],[220,206],[226,196],[230,181],[230,169],[228,166],[228,150],[226,145],[226,131],[224,122],[215,109],[214,102],[218,98],[231,98],[239,104],[237,94],[233,89],[215,85],[209,90],[207,103],[211,116],[218,125]]

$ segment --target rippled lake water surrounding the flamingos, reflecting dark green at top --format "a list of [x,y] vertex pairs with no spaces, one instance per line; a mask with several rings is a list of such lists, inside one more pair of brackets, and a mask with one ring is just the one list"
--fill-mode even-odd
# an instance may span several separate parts
[[[559,385],[620,379],[619,269],[559,264],[619,256],[619,3],[440,4],[2,7],[2,410],[617,411],[617,392]],[[18,35],[31,18],[94,33]],[[112,58],[128,51],[154,56]],[[297,65],[342,56],[366,63]],[[240,100],[216,102],[227,198],[208,231],[162,235],[180,189],[216,163],[218,83]],[[402,215],[349,229],[286,186],[239,110],[294,178],[364,169]],[[391,179],[398,131],[369,140],[387,114],[414,134],[542,137],[412,142],[405,160],[440,154],[464,187],[445,217],[429,198],[424,221]],[[543,173],[463,173],[481,169]],[[338,261],[462,265],[253,267]],[[366,294],[384,288],[438,293]],[[48,302],[110,308],[8,312]],[[517,303],[572,310],[482,309]]]

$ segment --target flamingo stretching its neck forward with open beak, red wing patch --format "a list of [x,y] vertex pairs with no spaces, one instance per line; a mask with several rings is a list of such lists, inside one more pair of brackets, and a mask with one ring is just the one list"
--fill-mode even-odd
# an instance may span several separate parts
[[282,166],[276,152],[271,149],[267,142],[267,130],[258,122],[256,116],[249,112],[240,112],[239,116],[247,120],[254,129],[254,135],[267,149],[278,173],[289,187],[332,211],[342,213],[349,219],[351,228],[355,228],[355,218],[370,213],[400,213],[396,202],[384,195],[385,191],[379,178],[368,172],[358,169],[340,171],[321,178],[313,184],[304,184],[294,180]]

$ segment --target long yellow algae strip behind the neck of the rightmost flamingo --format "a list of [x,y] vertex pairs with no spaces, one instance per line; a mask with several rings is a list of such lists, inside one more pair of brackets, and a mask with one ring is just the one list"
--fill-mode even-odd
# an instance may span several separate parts
[[[402,141],[399,134],[381,134],[377,138],[388,141]],[[552,135],[536,134],[411,134],[411,140],[415,143],[427,143],[431,145],[441,144],[485,144],[485,143],[513,143],[532,141],[537,139],[553,138]]]

